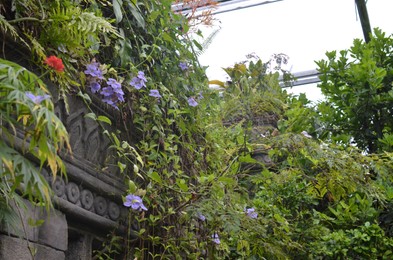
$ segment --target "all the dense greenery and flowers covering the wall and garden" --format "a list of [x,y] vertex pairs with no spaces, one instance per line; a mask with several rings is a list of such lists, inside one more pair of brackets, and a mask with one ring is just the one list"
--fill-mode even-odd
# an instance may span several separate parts
[[376,30],[354,41],[352,59],[317,62],[327,101],[313,106],[255,58],[210,89],[194,18],[171,4],[0,4],[4,39],[40,74],[0,60],[0,219],[21,197],[52,205],[39,168],[66,174],[57,152],[71,148],[46,79],[65,104],[100,99],[121,114],[124,132],[105,133],[129,187],[129,234],[112,234],[96,258],[390,259],[392,37]]

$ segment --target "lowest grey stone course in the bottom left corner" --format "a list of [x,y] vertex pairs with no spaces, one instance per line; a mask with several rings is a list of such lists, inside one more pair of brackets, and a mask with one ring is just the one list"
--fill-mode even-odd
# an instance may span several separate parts
[[63,260],[63,251],[38,245],[27,240],[0,235],[0,259],[1,260],[31,260],[33,259],[29,246],[34,253],[34,260]]

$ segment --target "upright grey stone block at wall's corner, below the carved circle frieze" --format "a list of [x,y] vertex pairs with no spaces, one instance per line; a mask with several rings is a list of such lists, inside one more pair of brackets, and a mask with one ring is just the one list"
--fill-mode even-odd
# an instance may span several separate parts
[[42,216],[45,222],[38,230],[38,242],[62,251],[67,250],[68,225],[66,217],[57,210]]

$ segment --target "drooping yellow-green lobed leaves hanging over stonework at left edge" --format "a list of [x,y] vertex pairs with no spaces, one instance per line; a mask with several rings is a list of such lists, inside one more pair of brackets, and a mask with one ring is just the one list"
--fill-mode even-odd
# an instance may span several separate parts
[[49,209],[51,189],[40,170],[48,167],[54,177],[65,174],[58,151],[70,149],[67,131],[55,115],[52,101],[35,103],[27,97],[28,91],[48,93],[35,74],[0,59],[0,192],[1,205],[6,206],[0,209],[2,214],[9,212],[11,201],[20,202],[19,194]]

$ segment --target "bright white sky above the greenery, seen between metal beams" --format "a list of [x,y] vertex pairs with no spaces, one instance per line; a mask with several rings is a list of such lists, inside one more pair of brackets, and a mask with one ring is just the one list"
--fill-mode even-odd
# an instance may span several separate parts
[[[393,33],[393,0],[368,0],[367,10],[372,28]],[[253,52],[264,62],[275,53],[288,55],[292,73],[316,69],[314,61],[324,59],[326,51],[348,49],[353,39],[363,39],[354,0],[284,0],[215,17],[219,22],[203,29],[204,35],[218,26],[221,30],[199,58],[209,66],[209,79],[225,80],[221,68]],[[291,92],[306,92],[314,101],[321,98],[312,85],[294,87]]]

